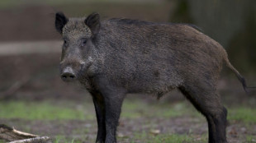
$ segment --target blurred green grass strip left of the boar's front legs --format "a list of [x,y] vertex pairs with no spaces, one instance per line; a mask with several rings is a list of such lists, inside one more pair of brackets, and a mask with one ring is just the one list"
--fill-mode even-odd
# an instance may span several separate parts
[[26,102],[11,101],[0,102],[0,118],[21,118],[21,119],[80,119],[93,118],[93,115],[84,113],[84,108],[70,108],[66,103],[56,105],[49,101]]

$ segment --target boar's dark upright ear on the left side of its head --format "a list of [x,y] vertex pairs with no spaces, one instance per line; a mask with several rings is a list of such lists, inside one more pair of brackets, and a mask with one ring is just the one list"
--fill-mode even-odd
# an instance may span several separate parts
[[64,14],[62,12],[57,12],[55,14],[55,29],[62,34],[62,29],[64,27],[65,24],[67,24],[67,22],[69,21],[69,19],[64,16]]

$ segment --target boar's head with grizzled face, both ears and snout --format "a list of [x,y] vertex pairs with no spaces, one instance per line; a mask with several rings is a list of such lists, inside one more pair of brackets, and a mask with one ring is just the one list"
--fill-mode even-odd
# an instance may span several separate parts
[[[100,16],[92,13],[86,18],[67,18],[62,12],[55,15],[55,29],[62,35],[60,76],[63,81],[75,81],[93,72],[97,58],[96,36],[100,30]],[[94,66],[95,67],[95,66]]]

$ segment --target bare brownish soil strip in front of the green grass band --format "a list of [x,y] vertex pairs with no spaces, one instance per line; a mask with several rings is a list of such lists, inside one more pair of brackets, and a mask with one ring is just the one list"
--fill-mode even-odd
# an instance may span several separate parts
[[[64,138],[75,141],[82,141],[84,143],[91,143],[95,140],[97,135],[96,121],[26,121],[21,119],[0,119],[0,122],[5,122],[8,125],[17,127],[17,130],[32,132],[40,136],[64,136]],[[145,122],[150,122],[145,123]],[[121,118],[120,126],[118,127],[117,136],[118,141],[123,143],[130,143],[135,141],[137,143],[148,141],[149,137],[158,136],[153,135],[150,131],[158,129],[159,135],[185,135],[192,136],[195,141],[201,141],[202,136],[206,136],[207,124],[201,118],[192,118],[184,115],[178,118],[136,118],[125,119]],[[245,126],[242,122],[230,122],[227,127],[227,139],[232,143],[247,142],[246,136],[256,136],[256,125],[251,127]],[[144,137],[135,139],[136,134],[145,132]]]

